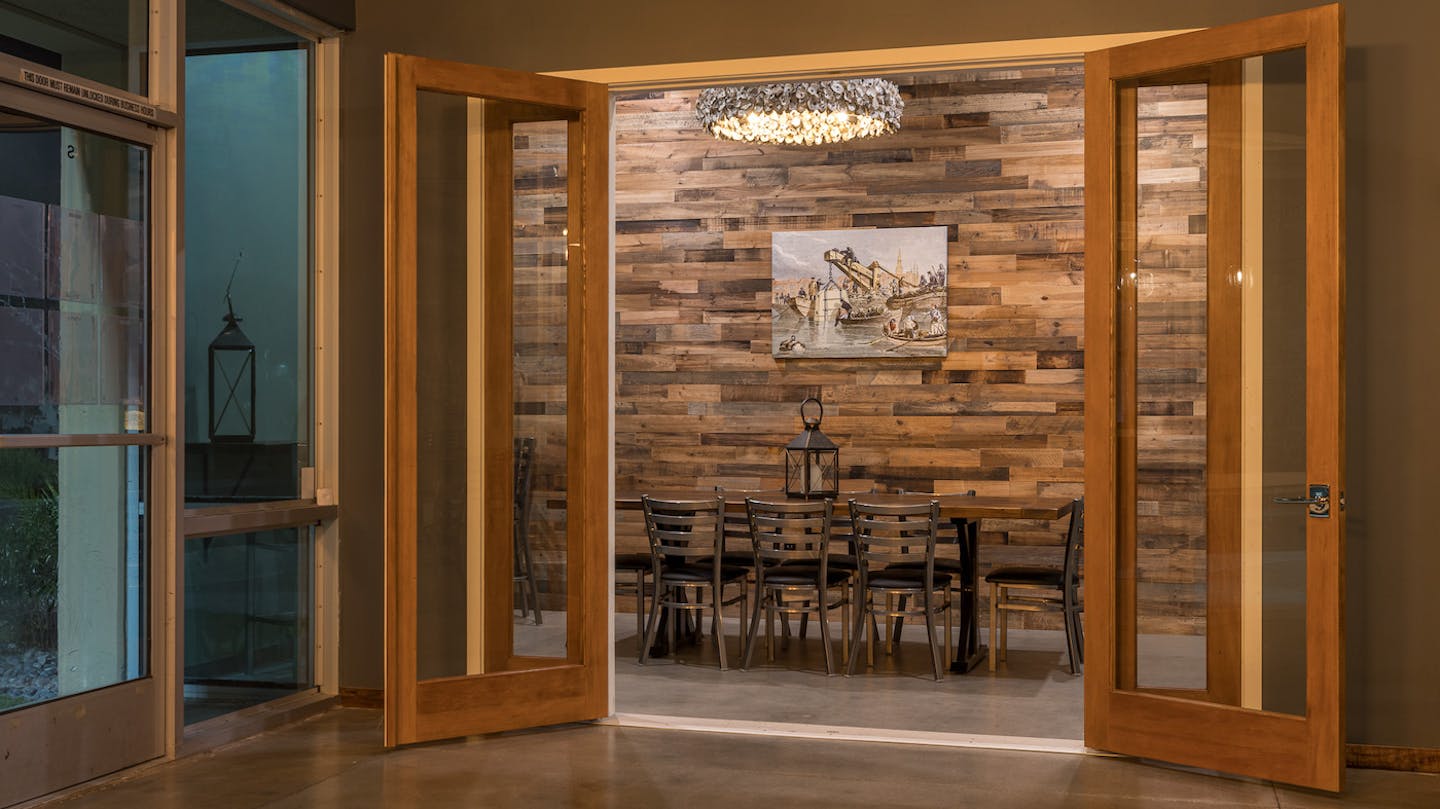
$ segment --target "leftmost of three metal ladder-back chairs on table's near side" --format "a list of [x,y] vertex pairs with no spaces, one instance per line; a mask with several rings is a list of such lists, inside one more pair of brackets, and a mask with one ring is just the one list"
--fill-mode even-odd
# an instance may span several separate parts
[[[649,537],[651,571],[655,576],[655,597],[649,603],[649,620],[639,646],[639,662],[649,659],[651,645],[660,631],[662,612],[677,615],[711,613],[711,635],[726,669],[726,649],[721,610],[740,605],[740,648],[744,648],[744,618],[749,615],[749,569],[724,564],[724,495],[696,500],[660,500],[641,497],[645,511],[645,534]],[[724,597],[724,587],[737,584],[739,593]],[[670,620],[674,632],[675,620]],[[674,649],[674,643],[670,643]]]

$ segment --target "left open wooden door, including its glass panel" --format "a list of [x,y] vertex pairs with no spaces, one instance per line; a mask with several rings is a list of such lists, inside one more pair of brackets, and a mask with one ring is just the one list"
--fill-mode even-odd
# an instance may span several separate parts
[[598,718],[608,92],[386,75],[384,743]]

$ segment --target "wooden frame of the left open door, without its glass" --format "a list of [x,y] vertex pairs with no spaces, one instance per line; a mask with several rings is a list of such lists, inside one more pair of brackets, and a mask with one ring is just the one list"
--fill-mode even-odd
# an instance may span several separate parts
[[[572,223],[579,232],[579,261],[572,253],[567,279],[570,330],[567,386],[566,531],[570,548],[569,643],[566,659],[547,661],[516,671],[452,677],[419,682],[416,659],[416,520],[419,464],[418,428],[418,119],[416,94],[433,91],[471,98],[514,101],[577,114],[572,138],[579,153],[582,194],[572,203]],[[608,445],[609,357],[609,91],[605,85],[481,68],[399,53],[386,55],[384,85],[384,379],[386,379],[386,487],[384,487],[384,744],[491,733],[579,721],[606,715],[609,708],[609,560],[608,527],[611,481]],[[495,255],[487,229],[487,253]],[[570,239],[576,239],[572,229]],[[501,250],[503,252],[503,250]],[[510,263],[505,262],[505,268]],[[487,278],[494,272],[487,272]],[[487,291],[494,289],[487,282]],[[494,305],[485,302],[487,320]],[[508,314],[508,312],[505,312]],[[504,318],[510,322],[510,318]],[[488,370],[487,370],[488,376]],[[488,400],[490,397],[487,397]],[[492,410],[487,403],[487,412]],[[494,416],[487,415],[487,420]],[[508,445],[498,488],[508,491]],[[487,446],[485,465],[495,452]],[[487,475],[488,476],[488,475]],[[494,489],[491,489],[494,491]],[[487,530],[503,523],[508,535],[511,510],[500,521],[487,518]],[[533,662],[533,661],[527,661]]]

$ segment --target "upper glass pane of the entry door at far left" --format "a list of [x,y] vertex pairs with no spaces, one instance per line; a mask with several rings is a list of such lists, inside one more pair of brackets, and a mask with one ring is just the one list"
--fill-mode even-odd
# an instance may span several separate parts
[[143,429],[150,153],[3,109],[0,124],[0,432]]

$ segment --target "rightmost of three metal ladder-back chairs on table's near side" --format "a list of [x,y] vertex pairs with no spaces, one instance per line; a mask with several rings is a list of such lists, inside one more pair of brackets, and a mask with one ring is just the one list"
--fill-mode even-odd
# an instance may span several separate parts
[[[945,678],[945,661],[950,656],[950,583],[953,576],[935,569],[935,544],[940,524],[940,504],[930,501],[913,505],[881,505],[858,500],[850,501],[850,521],[854,531],[855,554],[860,559],[860,590],[855,596],[854,643],[845,674],[855,668],[865,616],[924,618],[926,638],[935,678]],[[894,564],[922,563],[920,567],[893,569]],[[891,596],[901,597],[900,606],[890,606]],[[909,602],[909,605],[906,605]],[[935,638],[935,619],[945,619],[945,658]],[[870,622],[867,659],[874,665],[876,629]]]

